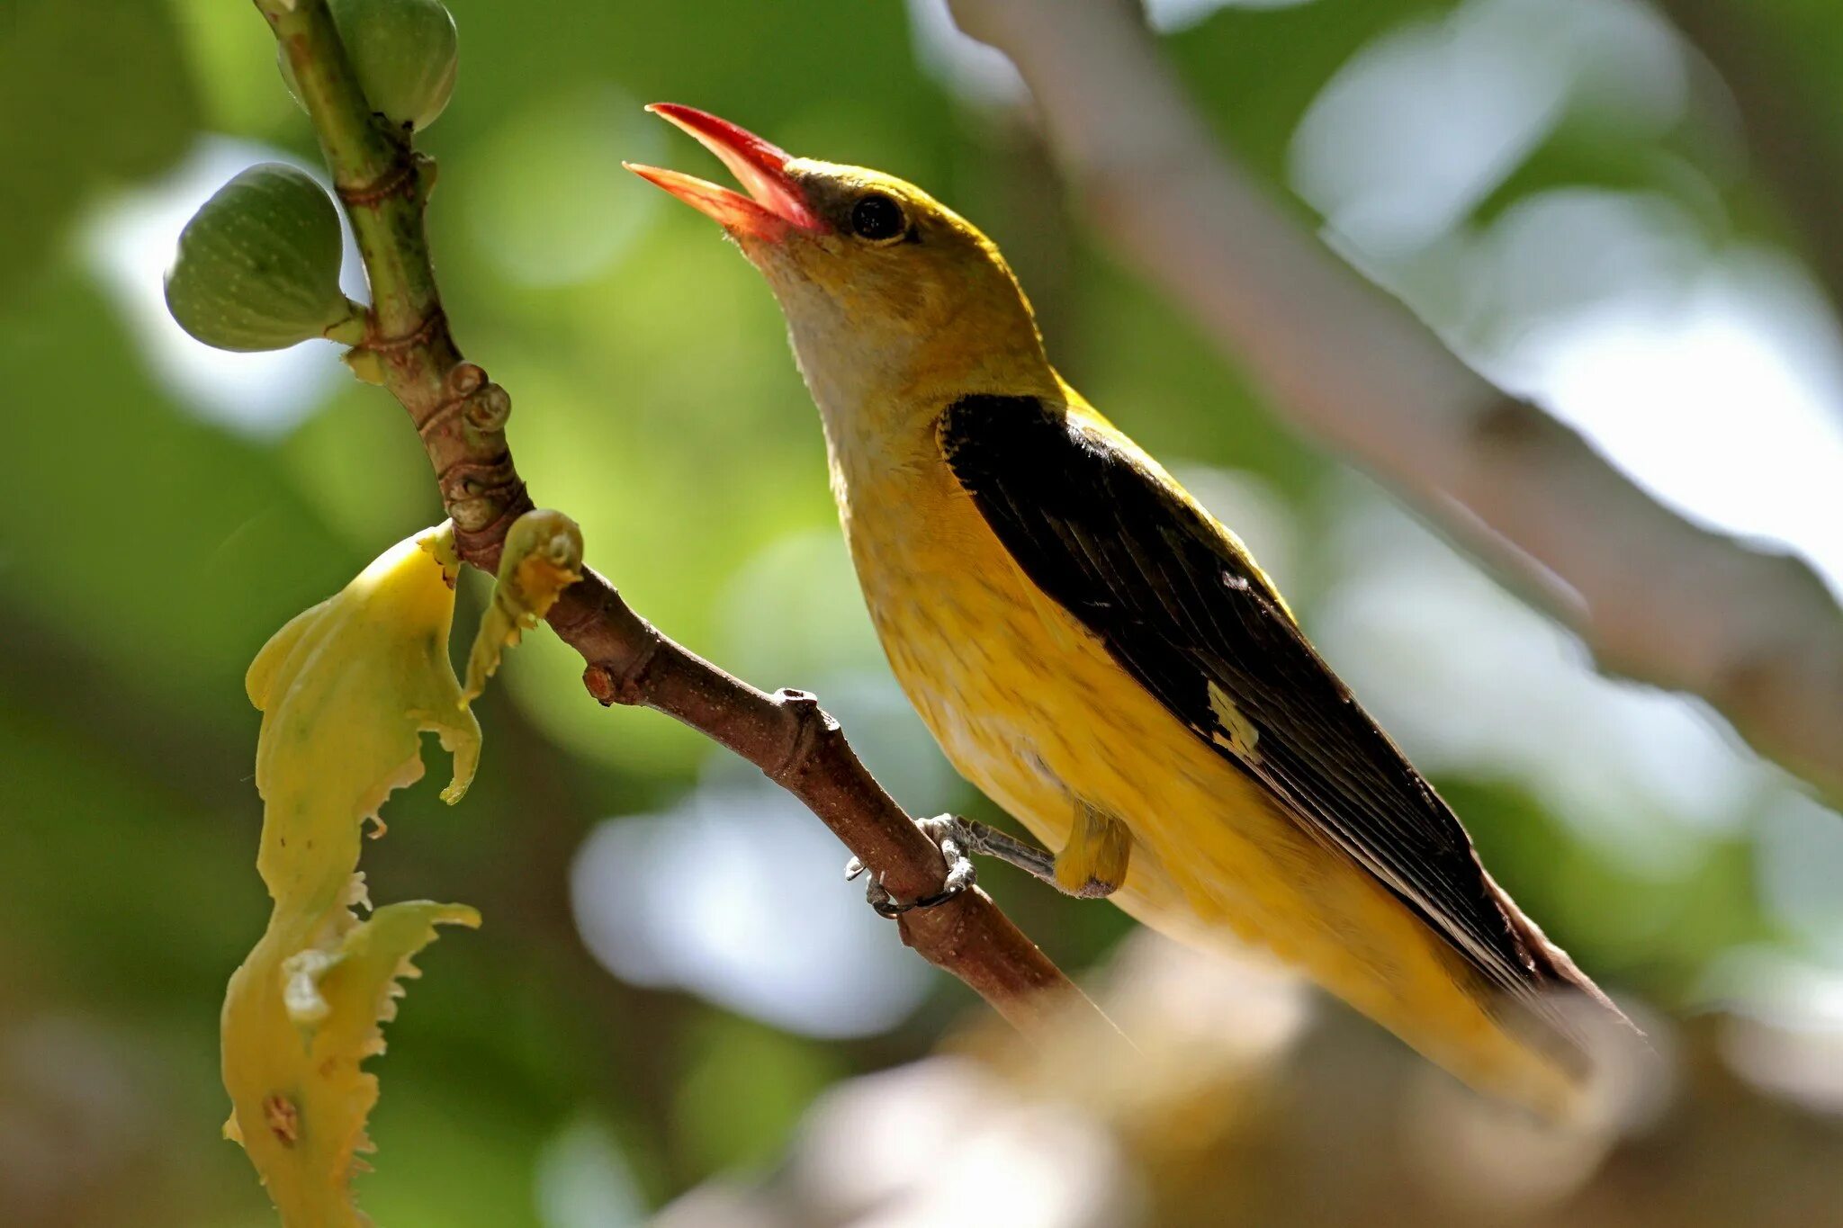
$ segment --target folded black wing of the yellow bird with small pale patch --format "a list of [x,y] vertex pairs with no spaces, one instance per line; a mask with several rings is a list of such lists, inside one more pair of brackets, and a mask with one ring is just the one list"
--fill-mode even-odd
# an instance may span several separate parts
[[1382,880],[1504,991],[1589,989],[1485,876],[1458,817],[1251,560],[1174,497],[1168,479],[1036,398],[962,398],[938,433],[947,466],[1025,574],[1309,832]]

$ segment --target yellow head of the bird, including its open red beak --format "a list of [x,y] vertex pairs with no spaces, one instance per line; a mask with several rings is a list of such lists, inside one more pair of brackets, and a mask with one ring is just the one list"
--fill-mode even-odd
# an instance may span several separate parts
[[1030,304],[969,221],[894,175],[791,156],[691,107],[649,110],[702,142],[748,195],[628,169],[713,217],[761,269],[835,438],[931,427],[969,392],[1054,392]]

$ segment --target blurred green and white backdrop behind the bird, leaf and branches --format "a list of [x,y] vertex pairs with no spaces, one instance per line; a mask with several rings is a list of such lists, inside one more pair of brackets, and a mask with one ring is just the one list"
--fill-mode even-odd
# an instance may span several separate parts
[[[485,913],[422,957],[372,1064],[380,1224],[1843,1219],[1843,817],[1701,703],[1598,676],[1296,436],[1082,230],[1015,75],[940,0],[450,6],[459,88],[422,140],[450,317],[512,394],[538,501],[636,609],[816,690],[914,812],[997,817],[883,663],[772,300],[619,166],[711,173],[640,110],[676,99],[982,225],[1051,357],[1250,541],[1666,1075],[1600,1134],[1543,1138],[1321,998],[980,865],[1063,968],[1174,1037],[1178,1075],[1078,1084],[1078,1042],[980,1027],[796,803],[662,716],[599,709],[538,633],[481,701],[466,803],[440,806],[431,768],[367,847],[376,898]],[[1148,18],[1299,225],[1668,506],[1843,595],[1843,7]],[[271,1222],[217,1136],[217,1007],[267,917],[241,674],[439,517],[402,411],[332,344],[219,353],[164,313],[179,228],[271,158],[319,173],[249,4],[0,0],[9,1226]]]

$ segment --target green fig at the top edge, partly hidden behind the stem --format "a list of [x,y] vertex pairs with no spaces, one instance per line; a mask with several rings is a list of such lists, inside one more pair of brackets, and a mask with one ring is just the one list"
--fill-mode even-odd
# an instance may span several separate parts
[[[358,85],[370,109],[398,127],[426,129],[455,92],[459,35],[440,0],[328,0]],[[288,48],[276,48],[282,81],[300,101]]]

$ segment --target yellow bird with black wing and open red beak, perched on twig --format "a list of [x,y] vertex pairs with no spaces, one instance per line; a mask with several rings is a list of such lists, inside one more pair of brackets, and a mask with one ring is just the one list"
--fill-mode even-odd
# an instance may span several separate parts
[[651,110],[748,191],[632,168],[780,300],[896,678],[1056,854],[964,819],[933,834],[1185,941],[1262,946],[1476,1088],[1567,1114],[1585,1033],[1624,1016],[1235,534],[1063,383],[997,247],[890,175]]

